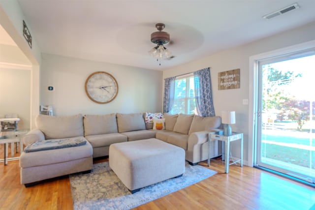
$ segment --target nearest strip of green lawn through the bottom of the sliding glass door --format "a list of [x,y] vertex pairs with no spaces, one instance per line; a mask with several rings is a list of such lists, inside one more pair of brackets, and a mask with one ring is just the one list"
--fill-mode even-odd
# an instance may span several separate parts
[[[261,144],[261,156],[271,158],[274,160],[283,161],[286,163],[291,163],[298,166],[310,167],[310,151],[284,147],[274,144],[266,144],[266,154],[265,154],[265,143]],[[311,151],[312,155],[312,169],[315,169],[315,151]]]

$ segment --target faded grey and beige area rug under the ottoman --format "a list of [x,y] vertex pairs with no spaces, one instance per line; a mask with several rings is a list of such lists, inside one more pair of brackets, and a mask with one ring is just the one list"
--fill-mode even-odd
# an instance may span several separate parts
[[185,174],[142,188],[131,194],[109,167],[108,162],[93,165],[90,174],[69,175],[74,210],[129,210],[191,184],[217,172],[186,163]]

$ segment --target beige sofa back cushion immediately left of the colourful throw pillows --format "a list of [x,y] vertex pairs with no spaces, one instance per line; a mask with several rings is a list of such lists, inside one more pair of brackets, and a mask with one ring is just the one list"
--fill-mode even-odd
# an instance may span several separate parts
[[146,125],[144,123],[143,114],[117,114],[118,132],[127,132],[134,130],[145,130]]

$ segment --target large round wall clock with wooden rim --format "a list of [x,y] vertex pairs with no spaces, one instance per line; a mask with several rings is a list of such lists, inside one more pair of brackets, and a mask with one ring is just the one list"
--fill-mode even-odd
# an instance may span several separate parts
[[106,104],[117,96],[118,83],[111,74],[96,71],[85,81],[85,92],[95,103]]

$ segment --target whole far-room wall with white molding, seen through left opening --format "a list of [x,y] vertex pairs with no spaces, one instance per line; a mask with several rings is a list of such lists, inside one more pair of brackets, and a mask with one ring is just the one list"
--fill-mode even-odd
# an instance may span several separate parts
[[0,44],[0,118],[18,114],[18,129],[31,127],[31,69],[19,47]]

